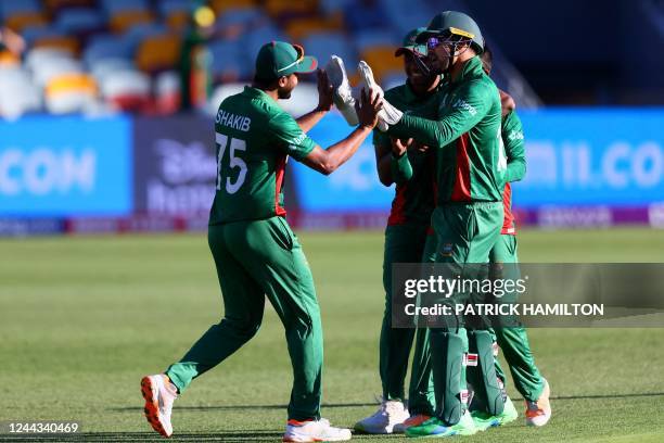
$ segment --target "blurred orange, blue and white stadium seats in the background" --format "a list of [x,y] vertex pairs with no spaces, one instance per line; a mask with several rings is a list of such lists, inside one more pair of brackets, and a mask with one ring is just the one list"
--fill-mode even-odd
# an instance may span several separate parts
[[[250,81],[256,52],[271,40],[302,43],[323,65],[332,54],[342,56],[352,83],[357,81],[360,56],[379,80],[397,81],[403,67],[393,55],[394,45],[401,38],[399,26],[410,25],[395,21],[409,22],[413,5],[423,1],[208,0],[203,3],[215,11],[216,21],[202,53],[209,58],[206,65],[216,86]],[[2,78],[26,96],[15,105],[3,97],[1,115],[85,112],[99,100],[124,111],[175,112],[182,41],[195,5],[203,3],[0,0],[2,25],[18,31],[26,43],[24,54],[0,52]],[[356,26],[362,14],[369,25]],[[2,90],[10,89],[3,85]]]

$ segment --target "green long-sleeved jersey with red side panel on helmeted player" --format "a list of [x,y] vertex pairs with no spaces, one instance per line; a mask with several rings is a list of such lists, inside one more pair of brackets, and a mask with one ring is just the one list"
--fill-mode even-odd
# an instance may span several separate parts
[[459,78],[439,94],[436,121],[406,113],[388,134],[440,148],[438,205],[501,201],[507,159],[500,137],[500,98],[480,58],[465,62]]

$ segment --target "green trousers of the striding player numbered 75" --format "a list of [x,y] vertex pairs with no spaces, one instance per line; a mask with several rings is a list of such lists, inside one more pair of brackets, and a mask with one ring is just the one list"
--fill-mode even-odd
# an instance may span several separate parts
[[284,328],[293,366],[289,419],[320,418],[323,338],[307,260],[282,217],[210,226],[208,243],[224,298],[224,318],[166,375],[183,391],[254,337],[265,296]]

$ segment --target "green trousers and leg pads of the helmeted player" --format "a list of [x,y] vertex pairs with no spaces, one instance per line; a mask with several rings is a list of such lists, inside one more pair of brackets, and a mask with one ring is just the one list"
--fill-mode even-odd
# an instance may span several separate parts
[[[437,263],[455,265],[455,275],[462,278],[484,278],[478,266],[488,263],[489,252],[500,236],[502,202],[450,203],[435,208],[432,225],[437,236]],[[473,294],[456,293],[447,303],[467,303]],[[475,329],[463,317],[448,316],[446,327],[431,329],[431,353],[436,398],[436,416],[447,426],[461,419],[468,405],[463,356],[469,350],[478,355],[476,379],[471,379],[475,395],[480,395],[487,412],[502,413],[505,401],[498,385],[493,338],[486,329]],[[472,372],[469,371],[469,376]]]

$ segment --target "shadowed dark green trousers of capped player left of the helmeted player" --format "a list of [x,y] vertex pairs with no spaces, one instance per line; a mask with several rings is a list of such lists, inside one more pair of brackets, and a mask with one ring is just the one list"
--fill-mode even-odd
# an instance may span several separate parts
[[435,236],[426,225],[395,225],[385,229],[383,256],[383,288],[385,312],[381,328],[379,371],[383,385],[383,398],[404,400],[404,385],[408,371],[408,357],[413,340],[408,408],[410,414],[432,415],[435,407],[431,380],[429,330],[392,328],[392,265],[395,263],[433,263]]

